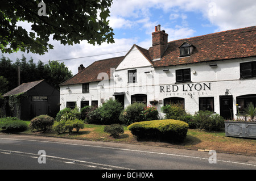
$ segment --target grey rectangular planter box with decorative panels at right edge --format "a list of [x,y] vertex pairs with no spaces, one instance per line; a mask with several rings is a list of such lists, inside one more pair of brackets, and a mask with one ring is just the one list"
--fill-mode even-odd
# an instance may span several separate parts
[[226,136],[256,138],[256,123],[225,121]]

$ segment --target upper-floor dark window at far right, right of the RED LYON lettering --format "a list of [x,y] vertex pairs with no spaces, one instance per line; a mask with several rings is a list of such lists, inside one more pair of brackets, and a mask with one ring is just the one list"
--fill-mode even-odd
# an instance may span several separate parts
[[256,77],[256,62],[246,62],[240,64],[240,77]]

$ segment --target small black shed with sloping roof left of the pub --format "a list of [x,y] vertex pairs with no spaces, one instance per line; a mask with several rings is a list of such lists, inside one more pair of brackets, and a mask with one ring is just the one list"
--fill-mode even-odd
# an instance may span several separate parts
[[22,120],[39,115],[55,117],[60,110],[60,91],[44,80],[22,83],[3,97],[6,99],[6,116]]

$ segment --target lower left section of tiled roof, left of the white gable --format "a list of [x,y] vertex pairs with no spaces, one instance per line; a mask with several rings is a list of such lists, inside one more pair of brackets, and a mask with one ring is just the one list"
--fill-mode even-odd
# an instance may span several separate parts
[[117,68],[122,60],[123,57],[115,57],[95,61],[93,64],[80,71],[80,73],[61,83],[60,86],[73,85],[77,83],[98,82],[101,81],[101,79],[98,79],[98,74],[100,73],[107,73],[110,79],[110,69]]

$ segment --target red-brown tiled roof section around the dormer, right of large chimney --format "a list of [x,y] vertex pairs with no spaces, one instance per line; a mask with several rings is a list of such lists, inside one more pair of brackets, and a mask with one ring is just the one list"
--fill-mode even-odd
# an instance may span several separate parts
[[[191,56],[180,57],[179,46],[184,42],[195,47]],[[151,52],[151,48],[149,52]],[[163,57],[161,60],[154,61],[154,66],[172,66],[253,56],[256,56],[256,26],[170,41]]]

